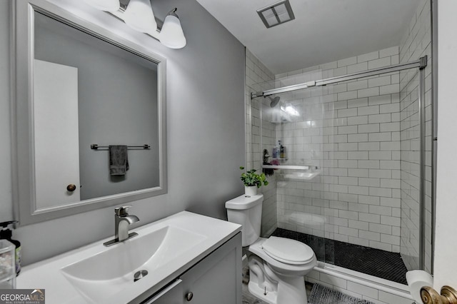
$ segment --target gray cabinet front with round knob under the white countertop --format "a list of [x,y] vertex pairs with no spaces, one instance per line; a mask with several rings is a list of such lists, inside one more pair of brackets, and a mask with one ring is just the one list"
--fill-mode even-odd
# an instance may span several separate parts
[[144,304],[241,304],[241,233]]

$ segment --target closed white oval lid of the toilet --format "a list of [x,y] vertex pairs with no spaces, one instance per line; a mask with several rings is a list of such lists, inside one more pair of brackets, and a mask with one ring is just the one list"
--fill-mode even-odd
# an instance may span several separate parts
[[306,244],[290,238],[269,237],[262,244],[263,251],[271,258],[288,264],[303,264],[311,260],[314,252]]

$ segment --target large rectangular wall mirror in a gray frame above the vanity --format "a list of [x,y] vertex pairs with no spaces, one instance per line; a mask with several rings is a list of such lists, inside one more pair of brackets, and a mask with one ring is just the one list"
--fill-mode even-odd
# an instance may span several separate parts
[[21,225],[166,193],[165,59],[46,1],[15,9]]

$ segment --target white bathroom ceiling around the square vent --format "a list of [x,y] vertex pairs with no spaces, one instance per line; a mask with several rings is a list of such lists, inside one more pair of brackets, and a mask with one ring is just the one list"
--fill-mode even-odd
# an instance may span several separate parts
[[278,0],[197,0],[273,74],[400,44],[423,0],[289,0],[295,19],[266,29],[258,9]]

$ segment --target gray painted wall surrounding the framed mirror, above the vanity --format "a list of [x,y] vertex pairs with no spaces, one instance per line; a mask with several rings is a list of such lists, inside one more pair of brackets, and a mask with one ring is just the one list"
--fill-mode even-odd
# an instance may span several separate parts
[[[163,19],[178,7],[188,44],[167,49],[136,33],[121,21],[90,9],[84,1],[53,0],[75,14],[107,26],[121,36],[167,58],[167,133],[169,193],[132,202],[141,226],[188,210],[226,218],[226,200],[243,193],[239,166],[244,163],[244,48],[229,31],[194,0],[152,1]],[[0,2],[0,14],[9,1]],[[9,20],[0,18],[0,66],[8,66]],[[11,213],[8,69],[0,69],[0,221]],[[5,126],[4,126],[5,124]],[[5,188],[3,188],[5,187]],[[114,233],[113,208],[102,208],[16,230],[24,265],[109,237]]]

